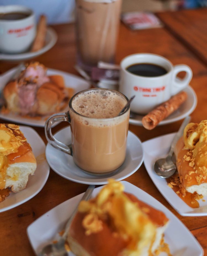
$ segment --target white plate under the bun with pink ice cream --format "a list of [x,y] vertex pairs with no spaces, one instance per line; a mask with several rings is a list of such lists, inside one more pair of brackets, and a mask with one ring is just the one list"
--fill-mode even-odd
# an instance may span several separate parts
[[[2,74],[0,76],[0,92],[4,88],[4,85],[8,82],[8,79],[12,76],[12,74],[17,70],[17,68],[12,68],[11,70],[7,71],[6,73]],[[75,93],[90,88],[90,83],[84,80],[83,78],[80,78],[78,76],[75,76],[70,73],[66,73],[60,70],[55,70],[48,68],[47,69],[47,75],[62,75],[65,80],[65,87],[70,87],[75,89]],[[47,117],[43,117],[42,119],[33,119],[33,118],[26,118],[21,117],[13,113],[9,114],[2,114],[0,113],[0,118],[5,119],[10,122],[17,122],[20,124],[26,124],[30,126],[39,126],[44,127],[45,121]]]

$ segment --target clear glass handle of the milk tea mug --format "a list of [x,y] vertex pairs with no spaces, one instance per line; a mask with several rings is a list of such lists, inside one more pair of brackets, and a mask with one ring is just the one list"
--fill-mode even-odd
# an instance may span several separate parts
[[70,123],[69,112],[58,113],[50,116],[45,122],[45,136],[49,144],[51,144],[54,148],[59,149],[65,153],[68,153],[69,155],[72,155],[72,150],[70,145],[65,145],[64,143],[55,139],[55,137],[52,135],[52,131],[51,131],[52,125],[55,122],[62,122],[62,121],[67,121]]

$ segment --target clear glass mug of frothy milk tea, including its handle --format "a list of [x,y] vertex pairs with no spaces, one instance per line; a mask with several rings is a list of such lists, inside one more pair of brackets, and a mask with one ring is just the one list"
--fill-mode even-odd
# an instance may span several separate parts
[[[111,89],[81,91],[70,99],[68,112],[47,119],[46,138],[53,147],[72,155],[75,164],[84,171],[93,174],[114,171],[126,157],[130,107],[119,113],[127,102],[124,94]],[[60,121],[70,123],[70,145],[52,135],[52,125]]]

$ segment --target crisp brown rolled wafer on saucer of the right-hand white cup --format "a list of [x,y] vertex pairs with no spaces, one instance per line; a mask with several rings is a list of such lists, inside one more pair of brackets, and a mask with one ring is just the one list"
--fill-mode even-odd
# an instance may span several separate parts
[[143,126],[147,130],[152,130],[159,122],[178,109],[186,99],[187,93],[184,91],[172,96],[168,101],[165,101],[142,118]]

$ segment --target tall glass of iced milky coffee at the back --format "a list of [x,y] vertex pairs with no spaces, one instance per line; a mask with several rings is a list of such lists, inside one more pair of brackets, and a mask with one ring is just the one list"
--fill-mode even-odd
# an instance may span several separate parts
[[121,0],[76,0],[78,64],[90,71],[97,62],[114,62]]

